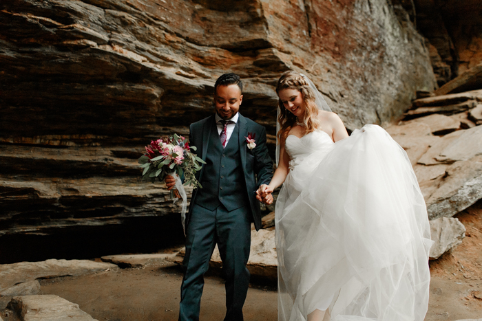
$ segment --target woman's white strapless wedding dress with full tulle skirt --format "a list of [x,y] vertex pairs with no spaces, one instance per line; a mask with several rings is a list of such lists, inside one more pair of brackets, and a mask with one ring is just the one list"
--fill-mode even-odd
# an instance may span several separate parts
[[289,135],[275,209],[278,320],[422,321],[430,227],[408,157],[377,125]]

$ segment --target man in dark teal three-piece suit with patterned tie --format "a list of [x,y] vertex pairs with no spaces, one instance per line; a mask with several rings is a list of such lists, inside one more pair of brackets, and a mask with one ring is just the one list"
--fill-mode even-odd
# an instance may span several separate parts
[[[246,267],[251,222],[261,227],[255,191],[268,184],[273,163],[266,148],[266,130],[240,113],[242,82],[224,74],[214,85],[216,113],[189,127],[189,144],[206,164],[196,173],[202,188],[193,190],[186,216],[185,276],[181,285],[180,321],[199,320],[204,274],[218,244],[226,279],[226,317],[243,320],[242,306],[249,285]],[[247,142],[251,134],[255,146]],[[169,189],[174,177],[168,177]]]

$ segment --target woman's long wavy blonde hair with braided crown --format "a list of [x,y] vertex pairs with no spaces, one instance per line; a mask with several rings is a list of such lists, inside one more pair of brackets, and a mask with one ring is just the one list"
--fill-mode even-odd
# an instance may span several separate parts
[[[296,71],[285,71],[281,75],[280,80],[277,81],[276,93],[278,98],[280,97],[280,91],[283,89],[296,89],[300,91],[305,106],[303,120],[305,125],[304,134],[306,135],[307,133],[315,131],[315,129],[319,127],[319,120],[317,118],[318,107],[315,104],[315,93],[313,89],[311,89],[308,80],[304,79],[303,76]],[[278,107],[280,108],[280,115],[277,121],[280,122],[280,131],[277,132],[277,140],[278,142],[284,142],[291,127],[293,127],[296,122],[296,116],[284,108],[281,99],[278,99]]]

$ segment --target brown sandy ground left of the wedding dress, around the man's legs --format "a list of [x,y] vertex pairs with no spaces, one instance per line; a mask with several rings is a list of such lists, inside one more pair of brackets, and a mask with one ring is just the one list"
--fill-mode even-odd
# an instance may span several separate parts
[[[101,272],[90,276],[41,281],[39,294],[56,294],[99,321],[176,321],[179,314],[182,272],[178,267],[146,267]],[[251,285],[244,304],[244,320],[277,320],[273,287]],[[224,283],[205,278],[200,320],[223,320]]]

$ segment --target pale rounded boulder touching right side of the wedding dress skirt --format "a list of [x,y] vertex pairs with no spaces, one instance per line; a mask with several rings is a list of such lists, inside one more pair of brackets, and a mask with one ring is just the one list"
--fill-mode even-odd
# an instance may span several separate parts
[[430,247],[429,257],[435,260],[462,243],[465,226],[459,219],[440,217],[430,221],[430,235],[434,244]]

